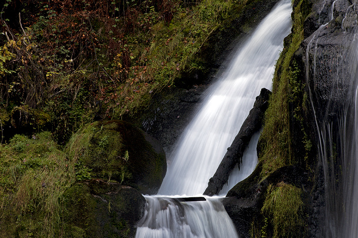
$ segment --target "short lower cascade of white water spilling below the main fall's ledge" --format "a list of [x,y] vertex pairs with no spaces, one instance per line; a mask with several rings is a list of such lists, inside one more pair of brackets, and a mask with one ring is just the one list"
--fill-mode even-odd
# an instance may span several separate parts
[[175,196],[159,195],[145,199],[136,237],[238,237],[219,197],[206,197],[205,202],[180,202]]

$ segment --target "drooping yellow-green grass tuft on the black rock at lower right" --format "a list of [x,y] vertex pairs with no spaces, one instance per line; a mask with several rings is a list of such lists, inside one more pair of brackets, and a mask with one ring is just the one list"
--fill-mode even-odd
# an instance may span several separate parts
[[[270,217],[274,228],[273,237],[297,237],[303,225],[303,202],[301,189],[280,182],[276,186],[270,184],[267,196],[262,206],[262,213]],[[267,220],[265,220],[265,226]],[[261,231],[261,235],[265,231]],[[264,237],[266,237],[264,235]]]

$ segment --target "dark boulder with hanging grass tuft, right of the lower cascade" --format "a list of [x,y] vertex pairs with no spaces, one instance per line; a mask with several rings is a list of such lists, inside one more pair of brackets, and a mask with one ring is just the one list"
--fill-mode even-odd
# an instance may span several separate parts
[[305,224],[312,184],[307,171],[284,166],[260,179],[262,163],[222,200],[241,237],[310,237]]

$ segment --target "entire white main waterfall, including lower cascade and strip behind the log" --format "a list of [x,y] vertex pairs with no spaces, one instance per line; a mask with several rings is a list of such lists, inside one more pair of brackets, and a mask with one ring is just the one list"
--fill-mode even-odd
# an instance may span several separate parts
[[[202,196],[227,148],[253,107],[261,88],[271,88],[275,61],[290,32],[291,1],[282,0],[238,49],[227,73],[211,86],[201,110],[185,130],[169,160],[160,195],[145,196],[145,215],[136,237],[237,237],[220,197],[179,202],[178,196]],[[257,163],[258,134],[250,145],[253,158],[243,156],[220,194],[248,176]],[[249,150],[250,151],[250,150]],[[242,175],[244,174],[244,175]],[[229,185],[230,184],[230,185]]]

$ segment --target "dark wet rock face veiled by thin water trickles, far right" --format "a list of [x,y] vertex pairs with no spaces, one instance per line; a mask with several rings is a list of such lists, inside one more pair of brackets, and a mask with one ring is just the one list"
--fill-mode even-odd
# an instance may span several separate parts
[[304,22],[306,39],[301,44],[301,59],[321,151],[316,172],[320,177],[316,177],[317,186],[312,191],[310,230],[316,237],[351,236],[345,232],[352,219],[344,217],[350,213],[348,204],[352,199],[346,191],[351,189],[351,175],[347,174],[352,167],[350,157],[354,157],[349,144],[355,143],[350,135],[356,123],[354,100],[358,85],[356,5],[357,1],[315,1]]

